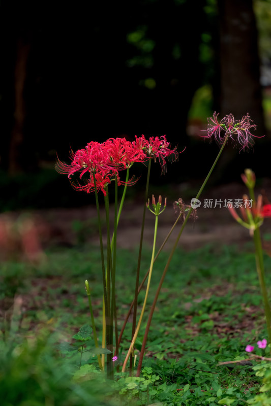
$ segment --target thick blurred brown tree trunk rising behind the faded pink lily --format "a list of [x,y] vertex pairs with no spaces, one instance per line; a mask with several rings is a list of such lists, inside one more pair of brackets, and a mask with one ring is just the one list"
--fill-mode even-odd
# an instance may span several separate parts
[[249,113],[257,134],[265,132],[260,86],[258,33],[252,0],[218,0],[221,117]]

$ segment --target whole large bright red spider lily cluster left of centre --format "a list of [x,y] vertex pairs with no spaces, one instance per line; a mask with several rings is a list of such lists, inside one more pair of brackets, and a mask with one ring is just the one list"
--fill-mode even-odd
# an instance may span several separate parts
[[[76,190],[83,190],[87,193],[101,190],[106,195],[106,186],[112,180],[117,180],[117,184],[121,185],[125,182],[119,178],[119,171],[128,169],[134,162],[146,162],[153,158],[159,160],[162,172],[165,171],[165,158],[171,156],[172,160],[176,160],[178,153],[176,148],[170,149],[166,137],[150,137],[146,140],[142,135],[135,137],[135,141],[130,142],[125,138],[109,138],[104,143],[91,141],[85,148],[78,150],[76,153],[71,151],[71,164],[66,164],[58,159],[56,170],[61,174],[67,174],[70,179],[76,172],[80,173],[79,178],[82,179],[84,174],[89,178],[87,182],[81,185],[80,183],[72,186]],[[133,185],[135,181],[130,179],[126,184]]]

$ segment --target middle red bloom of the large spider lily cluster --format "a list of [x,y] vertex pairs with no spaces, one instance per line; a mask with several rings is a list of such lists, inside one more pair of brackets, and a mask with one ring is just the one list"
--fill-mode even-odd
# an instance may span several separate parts
[[125,138],[109,138],[104,145],[107,148],[110,162],[118,169],[127,169],[134,162],[146,160],[146,154],[142,149],[137,149]]

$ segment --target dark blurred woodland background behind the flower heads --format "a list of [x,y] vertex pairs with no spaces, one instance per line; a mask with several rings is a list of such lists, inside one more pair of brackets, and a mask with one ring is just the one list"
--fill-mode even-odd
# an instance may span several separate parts
[[166,176],[154,165],[152,184],[201,181],[218,153],[200,137],[214,111],[249,112],[265,137],[228,145],[210,185],[245,167],[270,176],[270,0],[3,0],[0,29],[2,211],[88,204],[56,154],[110,137],[166,134],[186,150]]

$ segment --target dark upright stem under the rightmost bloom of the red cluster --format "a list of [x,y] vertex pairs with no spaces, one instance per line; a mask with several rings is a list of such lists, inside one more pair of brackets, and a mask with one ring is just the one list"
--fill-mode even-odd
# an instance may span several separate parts
[[[146,180],[146,190],[145,190],[145,200],[144,200],[143,216],[142,216],[142,226],[141,226],[140,243],[139,243],[139,251],[138,251],[138,261],[137,261],[137,269],[136,269],[134,311],[133,311],[133,322],[132,322],[132,340],[133,340],[133,336],[135,334],[135,329],[136,329],[138,285],[139,285],[141,253],[142,253],[142,246],[143,246],[144,226],[145,226],[146,201],[147,201],[147,198],[148,198],[148,185],[149,185],[149,174],[150,174],[150,166],[151,166],[151,164],[152,164],[152,158],[149,157],[147,180]],[[132,369],[133,369],[133,357],[131,356],[131,359],[130,359],[130,374],[132,374]]]

